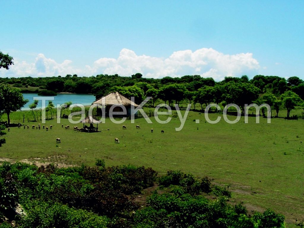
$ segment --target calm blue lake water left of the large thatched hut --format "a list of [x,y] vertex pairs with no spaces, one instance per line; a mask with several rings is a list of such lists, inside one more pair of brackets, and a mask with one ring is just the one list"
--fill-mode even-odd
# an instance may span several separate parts
[[[29,102],[24,105],[24,107],[21,110],[30,110],[29,105],[34,102],[33,97],[43,97],[43,96],[38,96],[36,93],[22,93],[24,99],[29,99]],[[52,97],[54,100],[52,100],[53,104],[55,107],[57,104],[63,104],[65,102],[71,101],[72,104],[78,103],[78,104],[83,104],[83,105],[91,105],[92,102],[95,101],[95,96],[94,95],[89,95],[89,94],[58,94],[57,96]],[[46,101],[46,106],[48,105],[48,101]],[[42,108],[42,101],[39,101],[37,105],[37,109]]]

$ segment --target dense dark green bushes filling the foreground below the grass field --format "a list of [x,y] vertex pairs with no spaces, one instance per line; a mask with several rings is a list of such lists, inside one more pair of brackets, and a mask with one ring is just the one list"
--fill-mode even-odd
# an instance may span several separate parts
[[[0,167],[0,227],[284,227],[271,209],[247,214],[208,177],[132,165],[57,168],[4,162]],[[143,202],[136,195],[155,189]],[[207,194],[214,195],[207,199]],[[216,197],[217,196],[217,197]],[[18,213],[13,209],[19,208]],[[21,210],[20,210],[21,208]]]

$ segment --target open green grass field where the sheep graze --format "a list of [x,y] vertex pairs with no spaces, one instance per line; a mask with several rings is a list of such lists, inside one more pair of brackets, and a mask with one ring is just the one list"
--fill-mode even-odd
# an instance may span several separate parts
[[[173,111],[174,112],[174,111]],[[291,113],[298,114],[301,110]],[[236,124],[228,124],[223,117],[217,124],[205,122],[204,113],[189,112],[185,126],[180,126],[178,118],[167,124],[152,124],[145,119],[130,120],[114,124],[110,119],[98,125],[98,133],[73,131],[67,119],[47,120],[45,126],[53,129],[31,129],[27,123],[30,111],[13,112],[12,123],[22,123],[23,114],[30,129],[11,127],[7,132],[6,144],[0,149],[0,157],[12,161],[59,162],[61,164],[94,165],[95,159],[105,159],[106,165],[134,164],[152,167],[159,174],[168,170],[181,170],[197,177],[209,176],[216,183],[230,185],[233,192],[232,203],[244,202],[250,210],[275,209],[285,215],[288,227],[295,226],[295,219],[304,218],[304,120],[285,120],[244,117]],[[274,113],[273,113],[274,114]],[[280,115],[285,113],[280,111]],[[209,114],[215,120],[222,114]],[[165,116],[162,119],[166,118]],[[6,116],[2,116],[2,121]],[[200,123],[195,123],[199,119]],[[229,116],[235,119],[235,116]],[[61,124],[70,125],[65,130]],[[122,126],[126,125],[127,130]],[[140,125],[141,129],[136,129]],[[83,124],[77,124],[82,127]],[[150,129],[154,132],[151,133]],[[109,130],[108,130],[109,129]],[[161,133],[164,130],[164,134]],[[56,138],[61,143],[56,143]],[[120,143],[114,143],[114,138]],[[57,147],[58,145],[58,147]]]

